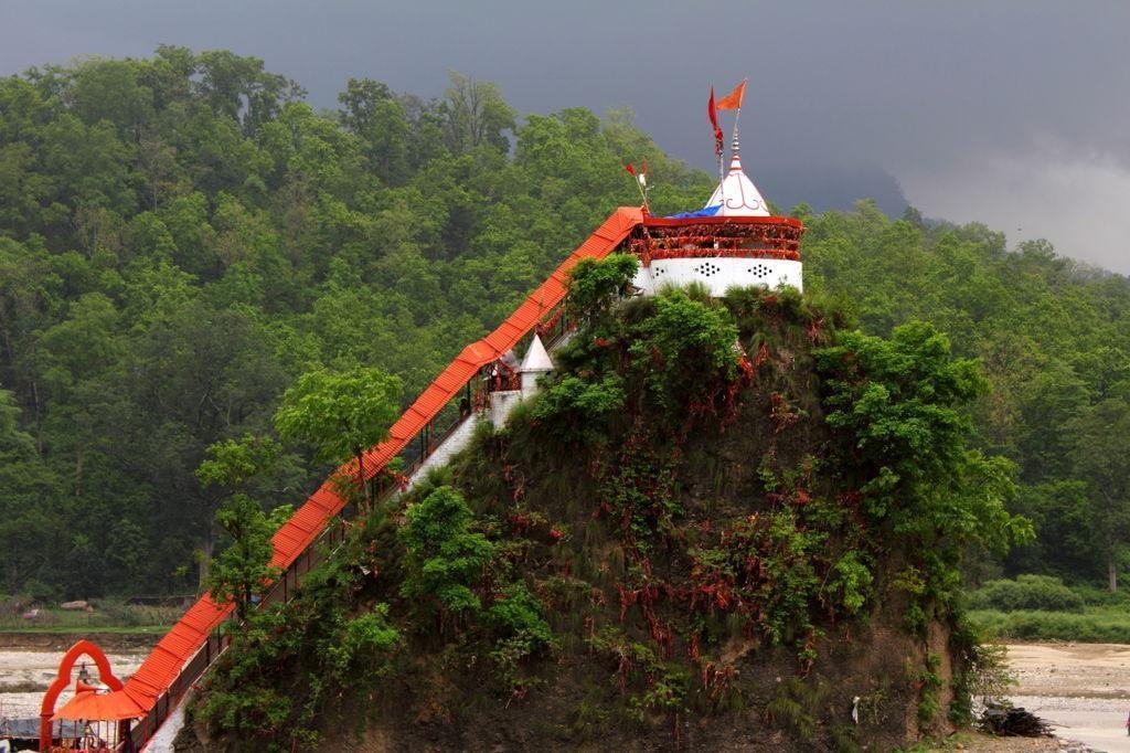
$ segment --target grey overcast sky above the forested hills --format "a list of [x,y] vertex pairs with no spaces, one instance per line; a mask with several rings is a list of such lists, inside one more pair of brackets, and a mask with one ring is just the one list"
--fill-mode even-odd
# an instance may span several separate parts
[[521,112],[629,105],[703,167],[707,88],[748,76],[742,157],[767,198],[890,175],[928,216],[1130,272],[1125,0],[0,0],[0,73],[160,43],[263,58],[315,106],[349,77],[436,96],[449,69]]

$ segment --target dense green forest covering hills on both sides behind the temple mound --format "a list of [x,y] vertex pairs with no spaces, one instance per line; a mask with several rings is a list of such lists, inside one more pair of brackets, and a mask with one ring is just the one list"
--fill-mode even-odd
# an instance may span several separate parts
[[[520,119],[458,73],[438,99],[373,79],[333,111],[303,94],[255,58],[174,46],[0,79],[0,538],[18,543],[0,591],[194,588],[217,538],[220,494],[194,474],[209,444],[269,434],[314,370],[380,366],[410,398],[637,202],[626,162],[649,163],[657,214],[714,182],[627,111]],[[866,331],[922,319],[980,358],[979,441],[1016,464],[1038,535],[1003,564],[1113,574],[1125,279],[913,210],[793,213],[810,288]],[[325,470],[310,455],[287,448],[255,499],[298,501]]]

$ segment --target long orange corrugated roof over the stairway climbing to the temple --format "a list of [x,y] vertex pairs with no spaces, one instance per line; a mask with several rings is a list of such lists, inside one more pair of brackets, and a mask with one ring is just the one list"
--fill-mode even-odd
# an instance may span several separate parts
[[[443,373],[416,398],[416,401],[400,416],[389,431],[389,439],[364,456],[364,475],[375,476],[385,464],[400,453],[405,445],[423,430],[429,421],[481,366],[499,358],[514,347],[527,332],[545,317],[550,309],[565,297],[565,280],[568,270],[581,259],[602,259],[608,256],[632,231],[643,222],[643,213],[636,208],[620,207],[597,232],[589,236],[568,259],[566,259],[538,289],[501,323],[493,332],[477,343],[468,345],[455,356]],[[338,474],[355,471],[355,464],[346,464]],[[271,564],[289,566],[308,547],[325,527],[328,519],[341,511],[345,500],[337,494],[330,482],[323,484],[306,500],[294,516],[284,523],[271,542],[275,556]],[[129,696],[132,703],[148,711],[157,698],[176,680],[185,663],[200,650],[208,634],[232,613],[232,605],[218,605],[205,595],[173,625],[173,629],[154,648],[119,693]],[[128,701],[122,701],[127,708]]]

